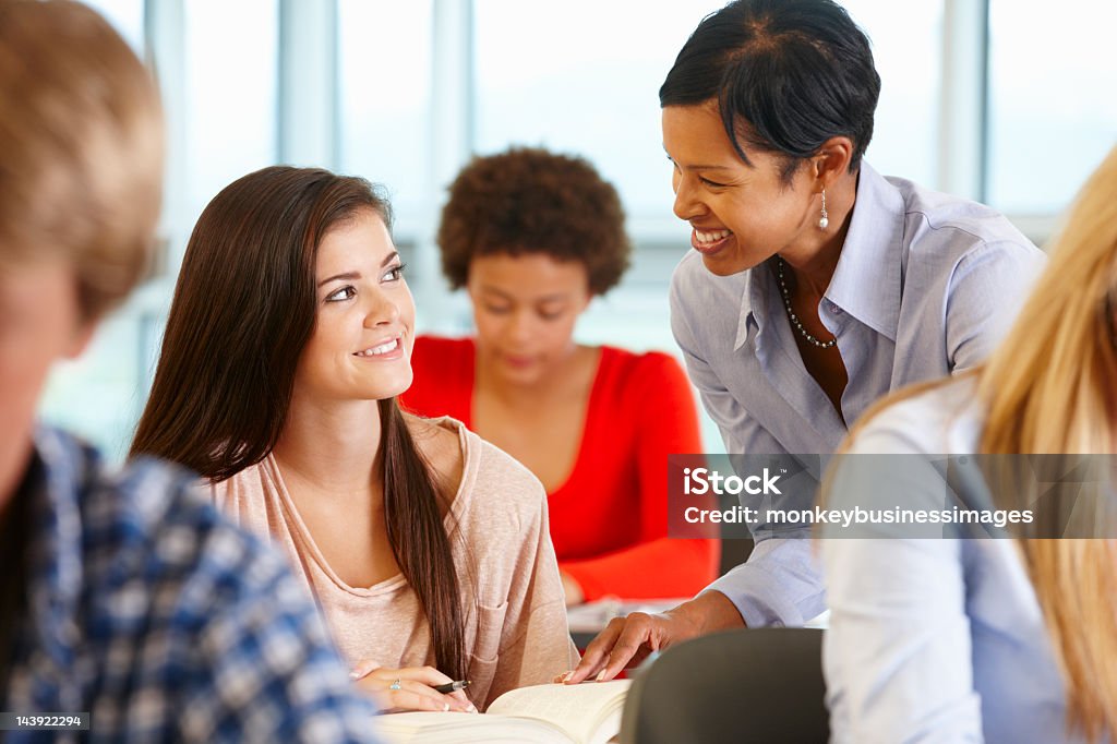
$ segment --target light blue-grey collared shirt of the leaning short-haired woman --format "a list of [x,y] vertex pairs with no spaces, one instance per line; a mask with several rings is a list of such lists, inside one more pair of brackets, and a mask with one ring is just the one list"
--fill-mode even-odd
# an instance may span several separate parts
[[[726,451],[828,455],[881,395],[981,362],[1042,266],[1043,254],[987,207],[886,179],[862,162],[846,245],[819,306],[849,373],[842,416],[803,365],[770,263],[718,277],[688,252],[671,277],[671,330]],[[809,504],[819,459],[804,465],[781,483]],[[753,535],[748,561],[707,591],[726,594],[750,627],[796,626],[822,612],[809,527]]]

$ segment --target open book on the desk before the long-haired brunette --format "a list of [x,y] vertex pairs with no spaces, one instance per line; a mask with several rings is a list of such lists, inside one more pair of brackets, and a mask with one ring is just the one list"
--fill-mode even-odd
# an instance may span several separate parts
[[476,713],[393,713],[376,718],[389,744],[605,744],[621,729],[628,679],[535,685],[505,693]]

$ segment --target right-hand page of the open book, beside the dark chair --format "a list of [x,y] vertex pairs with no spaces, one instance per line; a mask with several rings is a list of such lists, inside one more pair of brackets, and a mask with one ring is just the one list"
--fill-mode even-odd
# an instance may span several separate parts
[[488,714],[537,718],[561,726],[584,744],[608,742],[620,731],[630,679],[581,685],[533,685],[513,689],[488,707]]

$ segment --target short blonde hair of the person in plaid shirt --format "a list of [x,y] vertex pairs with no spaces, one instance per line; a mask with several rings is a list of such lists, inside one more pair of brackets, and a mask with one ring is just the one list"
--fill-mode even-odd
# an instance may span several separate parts
[[95,319],[143,276],[163,126],[143,64],[89,8],[0,0],[0,263],[61,257]]

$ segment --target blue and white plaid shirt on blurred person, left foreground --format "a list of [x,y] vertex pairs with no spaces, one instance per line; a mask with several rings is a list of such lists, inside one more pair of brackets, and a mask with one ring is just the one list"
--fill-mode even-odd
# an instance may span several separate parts
[[191,493],[191,474],[151,459],[109,473],[47,429],[36,457],[28,617],[0,710],[92,725],[6,741],[374,738],[306,590]]

